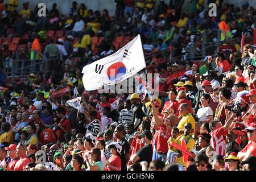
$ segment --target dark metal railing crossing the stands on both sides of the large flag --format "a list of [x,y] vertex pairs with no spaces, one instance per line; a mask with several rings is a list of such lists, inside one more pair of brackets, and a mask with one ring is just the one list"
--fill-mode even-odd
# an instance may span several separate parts
[[[188,53],[185,53],[184,55],[178,55],[178,56],[173,56],[174,51],[177,49],[180,49],[182,47],[176,47],[171,50],[167,51],[162,51],[158,53],[152,53],[152,55],[145,56],[146,60],[151,59],[152,57],[158,56],[158,55],[163,55],[164,53],[170,54],[168,58],[165,60],[172,60],[172,59],[180,59],[185,61],[185,59],[189,60],[200,60],[203,61],[203,57],[208,56],[208,55],[215,55],[218,52],[218,47],[223,43],[221,41],[221,31],[216,29],[216,30],[210,30],[213,32],[213,37],[217,38],[216,42],[212,42],[211,40],[209,41],[208,38],[208,33],[209,31],[205,31],[201,35],[201,55],[196,56],[196,43],[191,45],[191,50]],[[238,39],[233,39],[233,42],[239,42]],[[28,52],[29,57],[30,57],[30,52]],[[36,54],[39,54],[41,59],[36,60]],[[79,59],[83,59],[84,57],[79,57]],[[73,60],[72,55],[69,57],[69,59]],[[26,78],[27,75],[30,73],[45,73],[46,71],[46,66],[48,64],[48,59],[46,56],[44,56],[42,53],[38,51],[34,51],[33,59],[23,59],[22,56],[20,56],[20,52],[17,50],[11,55],[10,57],[7,57],[7,59],[4,61],[4,71],[7,74],[7,76],[11,77],[11,80],[14,81],[14,77],[18,76],[20,78]]]

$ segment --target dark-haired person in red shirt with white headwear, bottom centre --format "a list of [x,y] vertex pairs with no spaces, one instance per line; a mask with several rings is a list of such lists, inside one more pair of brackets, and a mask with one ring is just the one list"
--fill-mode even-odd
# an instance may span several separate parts
[[112,154],[106,165],[108,166],[108,171],[121,171],[121,151],[122,146],[118,142],[113,142],[107,146],[108,151]]

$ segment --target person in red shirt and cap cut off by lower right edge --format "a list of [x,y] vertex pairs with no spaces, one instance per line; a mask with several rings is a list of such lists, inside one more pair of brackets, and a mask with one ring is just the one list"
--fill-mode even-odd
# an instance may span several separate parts
[[242,161],[245,161],[251,156],[256,157],[256,123],[251,123],[244,131],[247,132],[250,143],[237,154],[237,158]]

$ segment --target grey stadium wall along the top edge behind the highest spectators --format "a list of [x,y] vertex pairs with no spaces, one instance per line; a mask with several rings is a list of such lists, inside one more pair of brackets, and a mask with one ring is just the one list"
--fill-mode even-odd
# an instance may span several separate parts
[[[19,0],[19,6],[18,10],[20,11],[22,7],[22,3],[26,2],[27,0]],[[34,7],[38,5],[38,3],[43,2],[46,3],[46,7],[48,10],[52,9],[52,4],[57,3],[57,9],[60,11],[60,13],[67,14],[69,9],[72,6],[73,0],[30,0],[29,7],[30,9],[34,10]],[[87,9],[92,10],[100,10],[108,9],[110,15],[115,14],[115,2],[114,0],[76,0],[78,3],[78,6],[80,6],[80,3],[85,3]],[[207,0],[205,0],[207,1]],[[5,1],[6,2],[6,1]],[[168,4],[170,0],[166,0],[166,3]],[[236,6],[242,6],[242,3],[249,2],[250,6],[256,7],[256,1],[255,0],[224,0],[224,3],[233,3]],[[159,3],[159,0],[156,0],[156,7]],[[183,5],[183,10],[188,11],[189,8],[189,0],[185,0],[185,3]]]

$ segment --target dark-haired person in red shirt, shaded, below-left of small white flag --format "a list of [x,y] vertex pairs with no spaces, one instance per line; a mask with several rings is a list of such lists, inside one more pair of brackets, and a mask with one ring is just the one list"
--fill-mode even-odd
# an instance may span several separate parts
[[69,119],[65,117],[65,109],[63,107],[57,107],[56,114],[57,117],[60,118],[60,122],[57,125],[56,135],[58,138],[63,137],[64,134],[67,134],[71,131],[71,123]]

